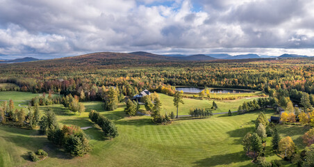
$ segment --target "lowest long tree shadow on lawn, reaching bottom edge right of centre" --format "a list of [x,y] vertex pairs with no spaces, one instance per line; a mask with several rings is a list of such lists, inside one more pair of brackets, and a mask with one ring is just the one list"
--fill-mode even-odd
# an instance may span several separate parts
[[195,164],[195,166],[229,166],[229,164],[247,160],[249,160],[249,158],[241,151],[223,155],[214,155],[206,159],[195,161],[193,164]]

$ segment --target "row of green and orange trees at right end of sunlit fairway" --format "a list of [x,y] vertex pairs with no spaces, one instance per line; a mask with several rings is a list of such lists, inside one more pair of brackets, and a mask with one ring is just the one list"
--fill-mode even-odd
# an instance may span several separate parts
[[250,102],[243,102],[238,108],[238,113],[247,113],[249,111],[255,111],[257,109],[263,109],[268,106],[273,107],[276,105],[274,97],[258,98],[258,100],[252,100]]

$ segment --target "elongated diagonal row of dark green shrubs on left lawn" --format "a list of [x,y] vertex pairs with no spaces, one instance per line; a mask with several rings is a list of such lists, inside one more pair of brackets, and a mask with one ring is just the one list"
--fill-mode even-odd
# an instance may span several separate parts
[[90,111],[90,114],[88,116],[92,122],[95,122],[101,129],[104,131],[105,136],[111,138],[117,137],[119,134],[117,132],[117,127],[115,127],[115,124],[111,122],[108,118],[101,116],[100,113],[97,111]]

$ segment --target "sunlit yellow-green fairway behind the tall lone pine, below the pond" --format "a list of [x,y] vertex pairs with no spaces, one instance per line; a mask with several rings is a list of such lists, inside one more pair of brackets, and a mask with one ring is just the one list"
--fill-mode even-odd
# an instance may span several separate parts
[[[160,97],[160,101],[163,104],[163,112],[171,113],[174,111],[176,114],[176,108],[174,107],[173,104],[173,97],[158,93]],[[257,99],[258,97],[248,97],[248,98],[242,98],[239,100],[223,100],[223,101],[217,101],[218,109],[213,111],[214,113],[222,113],[222,112],[228,112],[229,109],[231,111],[237,111],[238,107],[243,103],[243,102],[248,102],[254,99]],[[179,116],[184,116],[184,115],[189,115],[189,111],[191,108],[201,108],[201,109],[210,109],[213,100],[195,100],[195,99],[190,99],[190,98],[183,98],[184,104],[180,104],[179,106]]]

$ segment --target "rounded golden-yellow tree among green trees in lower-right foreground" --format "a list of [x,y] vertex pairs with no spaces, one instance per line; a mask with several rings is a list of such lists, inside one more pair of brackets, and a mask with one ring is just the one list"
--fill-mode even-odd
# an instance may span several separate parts
[[288,159],[295,154],[295,143],[292,141],[290,136],[286,136],[279,141],[279,151]]

